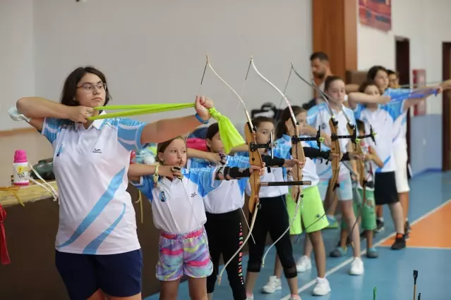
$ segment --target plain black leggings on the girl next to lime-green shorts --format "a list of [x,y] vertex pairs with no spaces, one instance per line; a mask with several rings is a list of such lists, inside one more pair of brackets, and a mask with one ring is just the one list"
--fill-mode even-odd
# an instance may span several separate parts
[[[249,222],[252,220],[252,214],[249,213]],[[265,254],[265,244],[267,232],[273,242],[278,239],[282,233],[287,230],[289,225],[289,217],[287,206],[285,204],[285,196],[277,196],[273,198],[260,198],[260,209],[258,210],[253,227],[252,235],[255,244],[249,239],[249,272],[260,272],[263,254]],[[275,244],[277,256],[284,268],[286,278],[294,278],[297,276],[296,263],[293,257],[293,248],[289,231],[285,232],[282,239]]]

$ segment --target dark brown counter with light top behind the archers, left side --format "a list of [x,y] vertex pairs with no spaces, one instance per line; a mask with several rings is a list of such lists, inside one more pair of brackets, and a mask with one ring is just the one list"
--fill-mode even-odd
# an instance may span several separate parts
[[[56,182],[50,183],[56,189]],[[138,190],[130,185],[128,192],[136,211],[138,239],[143,250],[145,298],[160,291],[160,282],[155,277],[160,232],[153,224],[150,202],[142,197],[144,218],[141,223],[141,206],[136,203]],[[24,206],[11,192],[0,192],[0,204],[7,213],[4,226],[11,258],[10,265],[0,265],[0,299],[69,300],[54,264],[59,204],[39,186],[21,188],[18,195]],[[246,199],[243,208],[246,214],[247,207]],[[243,226],[243,234],[247,232],[247,227]]]

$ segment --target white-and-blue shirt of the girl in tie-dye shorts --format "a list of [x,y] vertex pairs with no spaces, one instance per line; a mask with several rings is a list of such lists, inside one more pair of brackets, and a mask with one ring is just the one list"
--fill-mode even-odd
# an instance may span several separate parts
[[184,177],[169,180],[160,176],[157,186],[153,176],[142,176],[132,182],[148,197],[155,227],[174,235],[193,232],[207,222],[203,198],[220,186],[215,180],[216,168],[182,169]]

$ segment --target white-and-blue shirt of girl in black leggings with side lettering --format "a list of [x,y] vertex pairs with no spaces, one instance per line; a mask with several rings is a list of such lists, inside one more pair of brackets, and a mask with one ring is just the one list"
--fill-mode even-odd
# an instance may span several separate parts
[[[249,159],[243,156],[227,156],[225,165],[229,167],[249,168]],[[205,159],[190,158],[187,168],[216,168],[220,164],[210,163]],[[244,205],[244,189],[249,178],[239,180],[222,180],[220,186],[204,196],[203,203],[208,213],[228,213]]]

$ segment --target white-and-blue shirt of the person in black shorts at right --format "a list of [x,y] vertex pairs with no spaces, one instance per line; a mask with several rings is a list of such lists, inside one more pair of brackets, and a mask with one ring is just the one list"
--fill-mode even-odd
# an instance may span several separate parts
[[355,118],[365,123],[366,132],[369,132],[370,125],[373,127],[375,135],[375,151],[383,161],[383,168],[375,169],[375,173],[393,172],[396,170],[395,158],[393,157],[393,124],[404,112],[404,101],[393,101],[385,105],[380,105],[374,111],[357,104],[354,109]]

